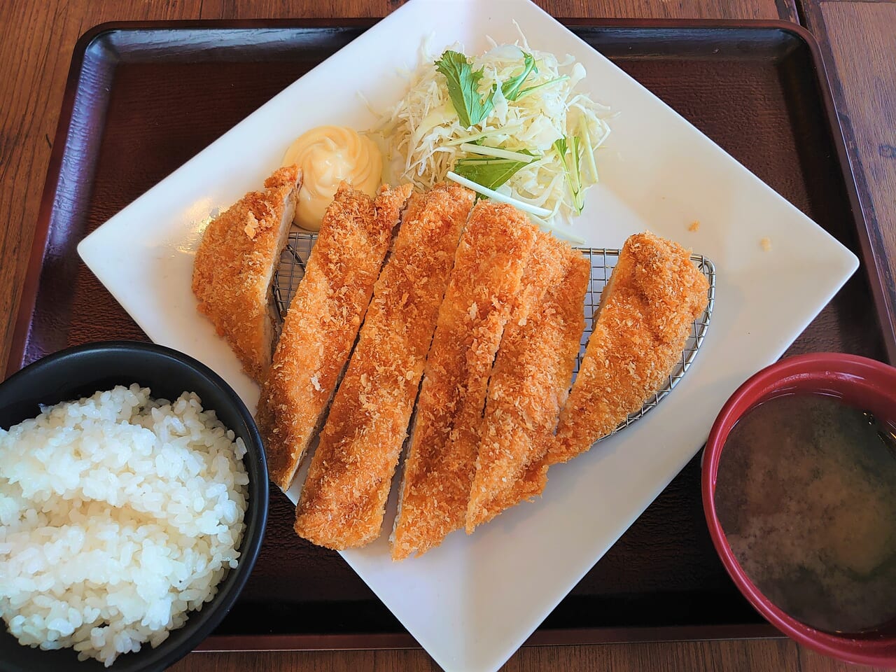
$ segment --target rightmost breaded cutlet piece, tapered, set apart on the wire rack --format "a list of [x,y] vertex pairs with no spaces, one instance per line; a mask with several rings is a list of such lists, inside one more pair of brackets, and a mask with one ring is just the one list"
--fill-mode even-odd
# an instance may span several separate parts
[[706,309],[707,289],[684,247],[651,233],[625,241],[560,413],[548,465],[587,451],[659,390]]

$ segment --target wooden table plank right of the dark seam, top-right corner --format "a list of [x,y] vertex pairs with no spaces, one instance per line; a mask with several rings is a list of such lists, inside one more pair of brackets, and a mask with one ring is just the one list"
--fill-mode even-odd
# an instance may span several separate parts
[[871,229],[876,272],[887,278],[885,319],[896,324],[896,4],[808,0],[806,5],[834,75],[835,103]]

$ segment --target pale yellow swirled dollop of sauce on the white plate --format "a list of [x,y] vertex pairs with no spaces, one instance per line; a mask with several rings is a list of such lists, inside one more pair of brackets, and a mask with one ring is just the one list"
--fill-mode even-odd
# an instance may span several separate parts
[[321,228],[323,211],[342,180],[374,196],[383,179],[383,155],[369,138],[344,126],[318,126],[298,137],[283,165],[302,169],[302,188],[294,221],[301,228]]

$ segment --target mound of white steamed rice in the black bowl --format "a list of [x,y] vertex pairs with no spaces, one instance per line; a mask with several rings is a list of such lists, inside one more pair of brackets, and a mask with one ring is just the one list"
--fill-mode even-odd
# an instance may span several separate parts
[[106,666],[214,597],[246,525],[242,439],[137,384],[0,429],[0,616]]

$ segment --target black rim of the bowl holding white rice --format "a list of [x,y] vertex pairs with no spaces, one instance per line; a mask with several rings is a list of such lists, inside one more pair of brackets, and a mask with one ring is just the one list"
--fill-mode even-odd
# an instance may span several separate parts
[[[258,559],[261,552],[270,508],[270,488],[267,482],[267,461],[265,459],[262,436],[258,431],[258,427],[255,425],[252,414],[249,412],[249,409],[246,408],[246,404],[242,401],[237,392],[219,374],[198,359],[179,350],[168,348],[167,346],[159,345],[158,343],[141,340],[91,341],[89,343],[57,350],[56,352],[31,362],[27,366],[22,366],[22,368],[13,373],[13,375],[0,381],[0,390],[6,387],[7,383],[14,384],[19,378],[24,378],[34,371],[39,371],[52,366],[59,366],[67,359],[78,358],[85,354],[108,353],[109,355],[114,355],[115,353],[120,352],[142,352],[150,354],[153,357],[161,356],[168,358],[177,362],[178,366],[186,366],[193,369],[195,373],[206,378],[212,386],[218,388],[232,404],[238,417],[246,426],[246,430],[248,431],[248,436],[246,437],[248,440],[245,442],[246,455],[253,455],[254,461],[258,462],[259,475],[263,478],[263,482],[258,484],[258,487],[255,488],[255,496],[250,502],[253,506],[253,516],[251,520],[248,515],[246,515],[246,518],[244,519],[247,530],[244,532],[244,537],[240,542],[239,564],[236,569],[230,570],[231,573],[236,574],[237,579],[234,580],[232,584],[224,586],[224,583],[228,581],[228,577],[233,575],[231,573],[226,574],[218,584],[219,590],[215,593],[211,601],[203,603],[201,607],[190,612],[192,616],[194,614],[202,614],[202,612],[205,612],[212,606],[214,608],[213,614],[208,618],[203,619],[199,625],[196,625],[195,630],[187,635],[183,642],[180,642],[167,651],[164,649],[165,642],[162,642],[158,648],[149,648],[147,659],[142,661],[138,668],[149,670],[159,668],[159,666],[168,667],[173,665],[177,660],[182,659],[186,654],[194,650],[196,646],[211,635],[214,629],[220,625],[224,617],[227,616],[234,604],[236,604],[240,593],[246,586],[246,581],[254,569],[255,561]],[[2,395],[0,395],[0,397],[2,397]],[[228,429],[233,429],[233,427],[228,427]],[[252,444],[254,444],[254,448]],[[246,472],[250,474],[251,478],[251,470],[249,469],[248,464],[246,464]],[[248,486],[250,495],[254,489],[252,486],[253,482],[250,480]],[[248,513],[248,511],[246,513]],[[247,533],[250,521],[254,524],[254,530],[251,535]],[[227,590],[221,590],[222,587]],[[187,619],[187,623],[189,623],[189,618]],[[171,632],[174,633],[176,631]],[[167,641],[168,640],[166,640],[166,642]],[[148,647],[148,642],[144,642],[143,648]],[[143,650],[143,648],[141,650]],[[152,655],[154,652],[158,652],[158,655]],[[0,667],[3,666],[0,665]],[[108,669],[111,669],[114,672],[116,669],[115,664]]]

